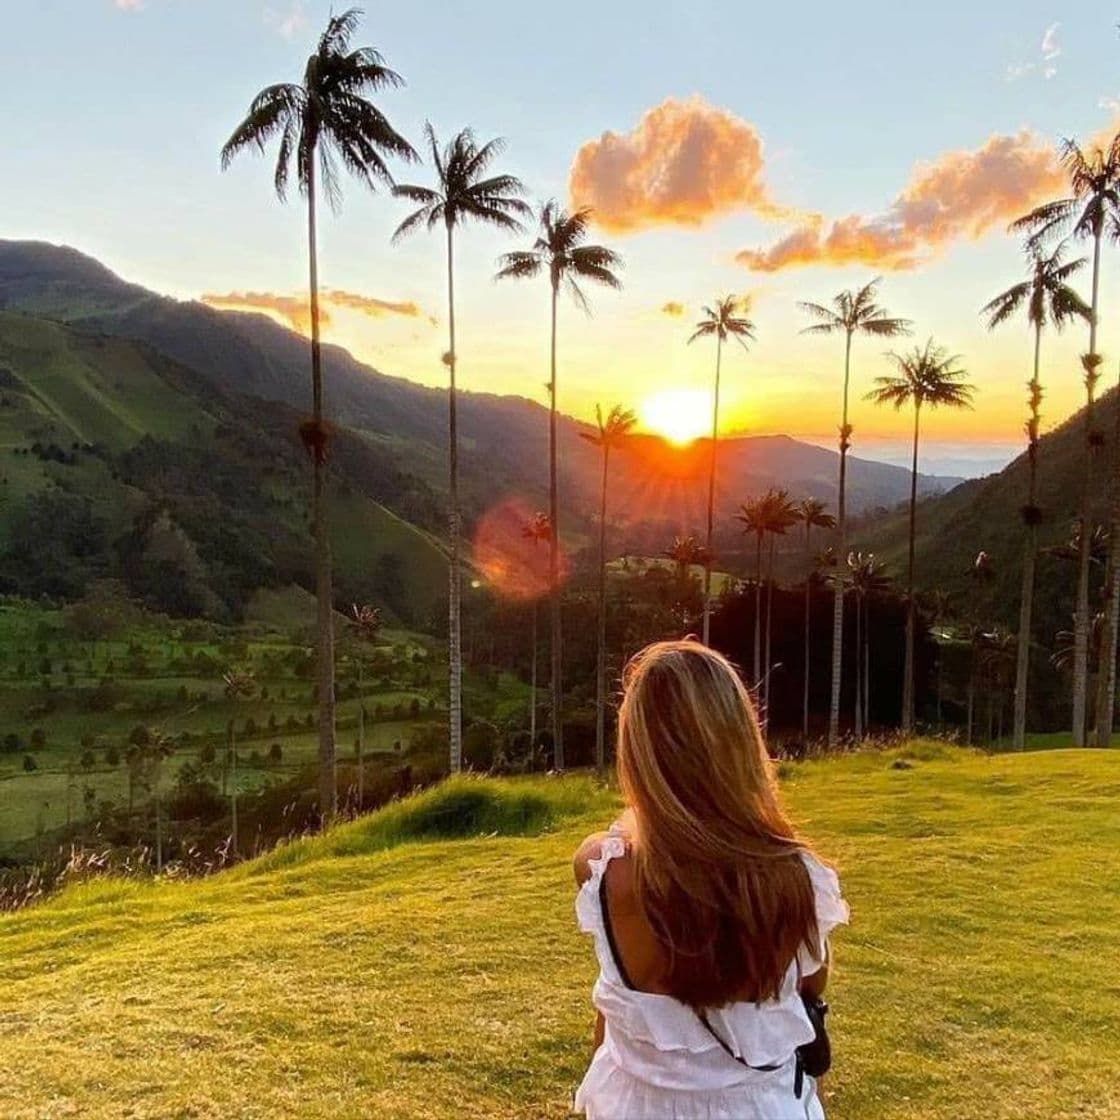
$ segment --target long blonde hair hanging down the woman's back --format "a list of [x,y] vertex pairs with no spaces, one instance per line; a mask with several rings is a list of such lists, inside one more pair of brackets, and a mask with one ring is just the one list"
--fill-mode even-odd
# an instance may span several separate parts
[[750,697],[694,641],[646,646],[623,684],[618,780],[668,990],[694,1007],[775,998],[799,949],[815,949],[816,915]]

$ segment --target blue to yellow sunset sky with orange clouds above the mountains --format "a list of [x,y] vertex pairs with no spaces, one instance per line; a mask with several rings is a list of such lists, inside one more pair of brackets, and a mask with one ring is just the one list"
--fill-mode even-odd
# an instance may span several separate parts
[[[832,444],[842,343],[800,334],[797,302],[881,276],[881,302],[914,323],[896,348],[934,337],[978,390],[972,412],[924,421],[923,465],[977,473],[1021,445],[1027,326],[989,334],[978,312],[1024,276],[1006,226],[1062,193],[1056,142],[1118,120],[1113,4],[367,9],[355,41],[407,83],[379,101],[400,132],[419,146],[430,121],[441,138],[467,124],[505,138],[500,167],[529,198],[591,206],[592,240],[624,258],[620,291],[591,291],[589,316],[561,309],[563,411],[620,403],[650,424],[699,423],[715,353],[688,338],[703,305],[735,295],[750,299],[756,342],[725,355],[722,430]],[[218,150],[258,90],[300,76],[329,12],[319,0],[8,0],[0,236],[71,244],[157,291],[306,329],[301,203],[277,200],[272,153],[223,174]],[[424,166],[392,168],[429,183]],[[351,181],[324,214],[325,335],[384,373],[442,384],[444,244],[392,244],[408,212]],[[498,255],[530,241],[459,235],[464,389],[545,398],[547,283],[493,280]],[[1117,252],[1102,272],[1109,383]],[[1047,426],[1081,403],[1084,334],[1044,342]],[[907,418],[862,399],[889,372],[885,348],[856,344],[853,452],[905,461]]]

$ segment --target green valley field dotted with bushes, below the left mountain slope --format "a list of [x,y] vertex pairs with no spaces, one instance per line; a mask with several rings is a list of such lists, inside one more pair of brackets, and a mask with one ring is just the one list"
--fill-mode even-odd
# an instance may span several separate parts
[[[261,614],[280,617],[291,592],[262,599]],[[364,704],[365,755],[407,752],[416,734],[444,718],[447,674],[427,637],[383,628],[374,645],[353,641],[339,618],[337,749],[356,755]],[[172,739],[162,793],[184,764],[204,749],[212,781],[224,783],[226,727],[232,720],[241,791],[292,777],[318,756],[317,699],[306,671],[310,645],[298,613],[287,629],[260,622],[246,627],[174,623],[132,610],[113,638],[80,641],[64,612],[0,601],[0,858],[47,850],[52,833],[81,824],[90,803],[128,802],[130,736],[138,728]],[[357,680],[357,660],[363,678]],[[252,672],[255,692],[225,696],[222,674]],[[512,674],[492,681],[468,674],[469,711],[479,718],[522,712],[528,688]],[[102,702],[95,698],[103,694]],[[273,744],[280,762],[268,754]],[[27,768],[28,759],[34,768]],[[138,806],[148,794],[133,788]],[[32,843],[34,841],[34,843]]]

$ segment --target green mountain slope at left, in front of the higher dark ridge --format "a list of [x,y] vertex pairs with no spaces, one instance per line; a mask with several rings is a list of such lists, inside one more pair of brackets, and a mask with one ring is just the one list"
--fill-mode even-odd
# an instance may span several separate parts
[[[0,311],[0,586],[71,598],[120,578],[161,609],[233,617],[259,587],[314,587],[298,422],[144,343]],[[339,594],[427,624],[439,503],[400,463],[338,433]]]

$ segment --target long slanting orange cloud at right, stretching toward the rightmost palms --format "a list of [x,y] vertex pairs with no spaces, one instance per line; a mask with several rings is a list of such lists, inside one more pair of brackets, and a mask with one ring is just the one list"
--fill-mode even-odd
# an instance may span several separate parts
[[758,272],[857,263],[913,269],[952,241],[1005,225],[1064,186],[1054,149],[1023,129],[918,165],[884,214],[849,214],[831,223],[814,214],[769,249],[743,250],[736,260]]

